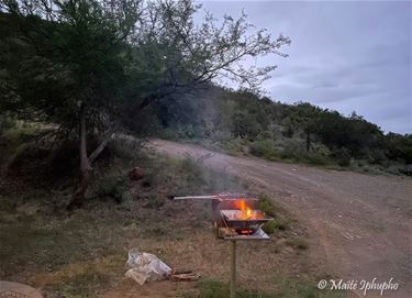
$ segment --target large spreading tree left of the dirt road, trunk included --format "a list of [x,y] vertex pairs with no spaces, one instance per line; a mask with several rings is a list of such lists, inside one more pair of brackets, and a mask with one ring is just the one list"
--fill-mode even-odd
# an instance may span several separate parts
[[[1,110],[53,123],[59,135],[78,132],[80,179],[69,208],[80,207],[91,165],[114,132],[143,129],[136,114],[219,77],[256,89],[275,66],[245,67],[247,57],[286,56],[265,30],[238,20],[218,22],[191,0],[0,1]],[[88,135],[100,144],[90,150]]]

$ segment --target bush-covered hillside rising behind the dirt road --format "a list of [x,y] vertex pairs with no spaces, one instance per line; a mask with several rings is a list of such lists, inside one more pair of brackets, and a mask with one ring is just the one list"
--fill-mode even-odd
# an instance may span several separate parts
[[178,93],[154,111],[157,132],[167,139],[270,161],[411,175],[412,135],[385,134],[356,113],[220,87]]

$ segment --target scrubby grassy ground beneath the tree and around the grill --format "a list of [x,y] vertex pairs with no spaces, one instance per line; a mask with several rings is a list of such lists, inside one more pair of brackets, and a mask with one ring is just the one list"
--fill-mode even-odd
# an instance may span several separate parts
[[[42,126],[18,124],[0,137],[2,180],[0,185],[0,276],[42,288],[46,297],[97,297],[120,287],[127,250],[140,247],[155,253],[177,267],[192,267],[204,278],[181,297],[226,297],[227,260],[225,243],[215,241],[210,230],[210,206],[204,202],[179,203],[172,195],[257,191],[236,177],[205,168],[201,158],[175,159],[143,148],[136,140],[116,139],[96,161],[93,184],[85,206],[65,211],[71,198],[76,146],[51,148],[37,143]],[[74,152],[70,152],[69,148]],[[64,152],[64,154],[62,153]],[[35,161],[35,162],[33,162]],[[58,165],[58,169],[56,168]],[[134,166],[145,169],[138,181],[129,179]],[[242,278],[252,278],[256,260],[259,266],[276,266],[276,276],[257,283],[242,282],[240,297],[341,297],[322,294],[313,286],[313,274],[299,275],[267,258],[304,260],[308,242],[294,220],[268,195],[260,195],[260,208],[275,217],[265,230],[272,235],[270,245],[240,245],[240,257],[252,266]],[[203,245],[203,250],[187,250]],[[188,246],[189,245],[189,246]],[[252,250],[249,252],[249,250]],[[200,252],[216,262],[204,262]],[[185,255],[185,257],[183,257]],[[274,258],[275,260],[275,258]],[[187,263],[185,263],[187,262]],[[319,273],[323,274],[323,273]],[[281,276],[280,276],[281,275]],[[219,282],[218,282],[219,280]],[[134,286],[136,287],[136,286]],[[323,296],[322,296],[323,295]],[[330,296],[327,296],[330,295]]]

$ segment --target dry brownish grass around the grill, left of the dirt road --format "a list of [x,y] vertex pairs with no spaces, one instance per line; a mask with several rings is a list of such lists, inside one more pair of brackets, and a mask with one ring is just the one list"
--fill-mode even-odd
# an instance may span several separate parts
[[[34,285],[47,297],[97,297],[108,289],[122,290],[127,251],[137,247],[176,268],[193,269],[205,280],[213,277],[226,283],[229,245],[212,233],[209,203],[177,202],[167,197],[243,191],[247,185],[226,173],[203,168],[201,161],[179,161],[154,153],[129,157],[114,158],[111,170],[100,168],[102,174],[96,177],[127,180],[127,169],[135,165],[144,167],[147,176],[143,181],[119,188],[130,197],[118,202],[102,199],[93,188],[85,208],[70,216],[63,211],[70,189],[49,191],[2,184],[0,278]],[[270,241],[240,243],[240,288],[245,293],[274,293],[279,287],[275,278],[279,274],[314,280],[319,271],[309,261],[309,254],[286,244],[301,233],[292,224],[285,231],[278,229]],[[203,287],[208,285],[178,287],[178,296],[199,297]]]

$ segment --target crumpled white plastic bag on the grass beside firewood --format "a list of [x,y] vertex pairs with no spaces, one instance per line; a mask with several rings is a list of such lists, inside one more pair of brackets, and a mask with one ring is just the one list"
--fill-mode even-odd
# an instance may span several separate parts
[[145,282],[165,279],[171,268],[163,263],[157,256],[148,253],[141,253],[135,249],[129,251],[129,260],[126,263],[131,268],[124,274],[136,280],[141,286]]

